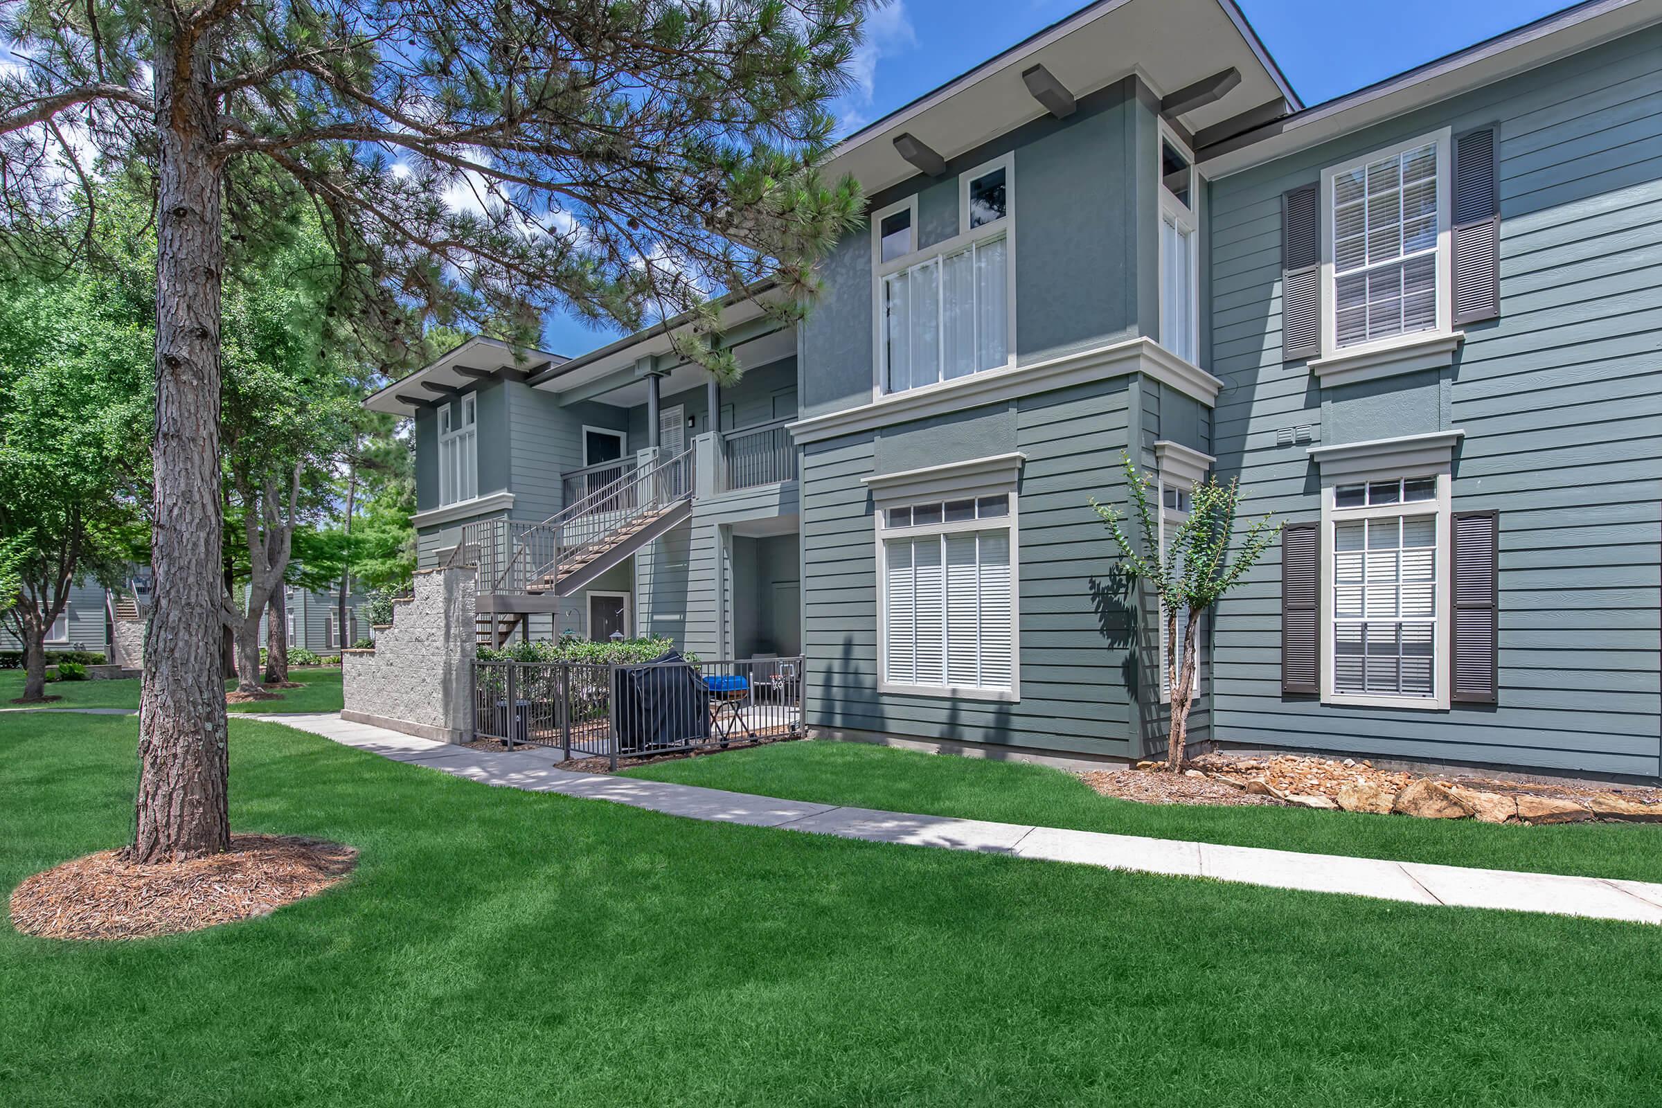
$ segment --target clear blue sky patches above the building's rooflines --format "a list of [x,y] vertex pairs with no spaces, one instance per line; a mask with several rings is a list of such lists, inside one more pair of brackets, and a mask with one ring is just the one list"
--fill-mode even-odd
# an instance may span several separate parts
[[[1567,7],[1567,0],[1237,0],[1306,105],[1316,105]],[[866,20],[853,131],[952,80],[1084,0],[891,0]],[[582,354],[612,336],[550,317],[545,349]]]

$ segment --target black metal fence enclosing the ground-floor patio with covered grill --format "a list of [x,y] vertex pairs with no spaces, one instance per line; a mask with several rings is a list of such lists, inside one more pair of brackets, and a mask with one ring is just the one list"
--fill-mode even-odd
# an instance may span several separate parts
[[650,757],[803,734],[803,659],[475,661],[474,738]]

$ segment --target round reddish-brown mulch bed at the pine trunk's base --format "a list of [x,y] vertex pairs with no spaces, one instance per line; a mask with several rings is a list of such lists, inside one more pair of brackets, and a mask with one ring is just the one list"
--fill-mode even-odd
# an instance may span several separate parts
[[297,836],[231,836],[226,854],[141,865],[100,851],[27,877],[12,925],[43,939],[151,939],[266,915],[346,879],[357,851]]

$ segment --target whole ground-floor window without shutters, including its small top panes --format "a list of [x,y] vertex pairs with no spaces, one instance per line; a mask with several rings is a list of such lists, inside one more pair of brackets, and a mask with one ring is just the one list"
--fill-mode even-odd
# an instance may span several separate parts
[[1015,699],[1015,493],[878,518],[883,691]]

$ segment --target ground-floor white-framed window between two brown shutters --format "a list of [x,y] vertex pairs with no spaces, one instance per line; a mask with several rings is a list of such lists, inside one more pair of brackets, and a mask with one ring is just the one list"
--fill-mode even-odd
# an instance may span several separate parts
[[1444,699],[1448,477],[1330,485],[1323,605],[1333,701]]

